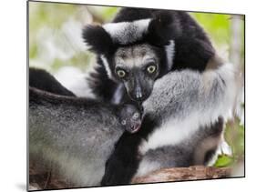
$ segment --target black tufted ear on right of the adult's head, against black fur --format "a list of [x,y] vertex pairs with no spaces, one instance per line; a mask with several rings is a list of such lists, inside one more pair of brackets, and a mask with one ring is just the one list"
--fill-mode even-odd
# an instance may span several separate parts
[[169,11],[159,11],[148,25],[148,41],[155,45],[169,45],[169,40],[175,40],[181,35],[179,19]]

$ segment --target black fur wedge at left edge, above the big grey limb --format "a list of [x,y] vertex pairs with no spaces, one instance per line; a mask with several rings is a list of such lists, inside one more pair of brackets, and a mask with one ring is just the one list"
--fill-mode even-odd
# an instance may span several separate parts
[[29,86],[57,95],[75,96],[75,94],[62,86],[54,76],[50,75],[44,69],[29,68]]

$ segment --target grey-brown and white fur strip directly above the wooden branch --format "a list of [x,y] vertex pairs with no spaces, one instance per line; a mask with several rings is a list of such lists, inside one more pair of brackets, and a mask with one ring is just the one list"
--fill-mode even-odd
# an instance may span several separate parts
[[141,158],[135,177],[147,176],[151,171],[161,168],[208,165],[219,147],[222,132],[223,119],[219,117],[210,126],[201,126],[178,145],[149,149]]

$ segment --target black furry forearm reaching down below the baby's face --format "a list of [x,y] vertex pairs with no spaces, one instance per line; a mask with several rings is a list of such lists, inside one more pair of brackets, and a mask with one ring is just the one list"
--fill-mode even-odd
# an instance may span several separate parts
[[138,146],[142,139],[147,139],[148,135],[158,126],[158,122],[150,115],[143,118],[142,125],[136,134],[125,132],[118,140],[115,151],[108,158],[105,175],[101,185],[124,185],[128,184],[138,169],[140,156]]

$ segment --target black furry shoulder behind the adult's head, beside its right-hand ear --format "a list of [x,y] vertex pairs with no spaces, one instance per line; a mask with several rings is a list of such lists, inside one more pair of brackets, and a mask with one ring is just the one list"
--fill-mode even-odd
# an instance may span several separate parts
[[[200,25],[186,12],[166,11],[158,16],[158,19],[163,21],[159,22],[159,25],[156,27],[153,27],[153,31],[156,31],[154,28],[159,28],[159,35],[155,36],[162,36],[162,39],[169,37],[175,41],[175,56],[172,70],[189,68],[203,71],[210,57],[215,55],[215,50]],[[164,30],[167,25],[166,23],[169,25]]]

